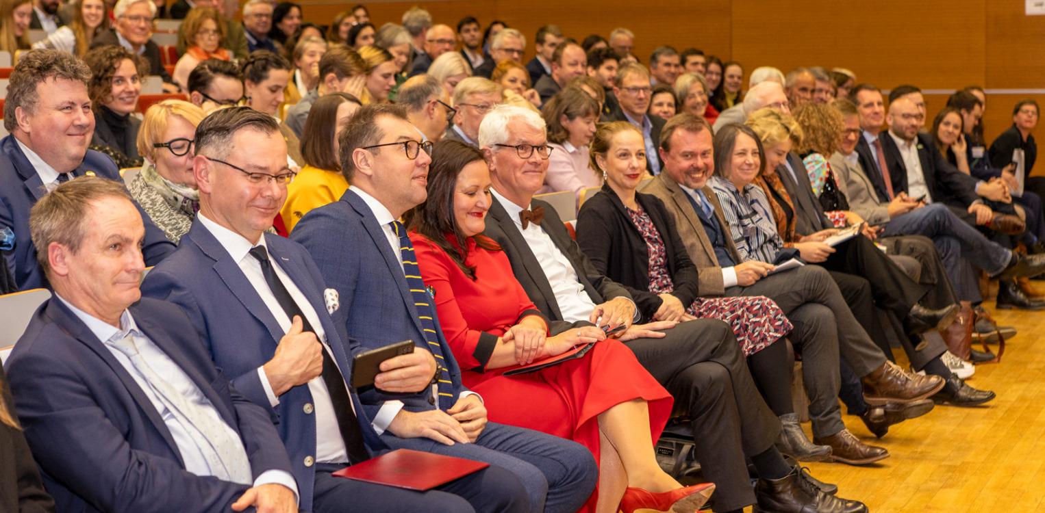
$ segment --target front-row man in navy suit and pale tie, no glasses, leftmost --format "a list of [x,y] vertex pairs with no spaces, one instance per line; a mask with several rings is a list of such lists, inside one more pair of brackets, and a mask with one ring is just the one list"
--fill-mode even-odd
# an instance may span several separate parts
[[6,372],[57,510],[298,511],[265,411],[229,386],[181,309],[141,299],[145,230],[123,187],[60,185],[30,225],[54,296]]

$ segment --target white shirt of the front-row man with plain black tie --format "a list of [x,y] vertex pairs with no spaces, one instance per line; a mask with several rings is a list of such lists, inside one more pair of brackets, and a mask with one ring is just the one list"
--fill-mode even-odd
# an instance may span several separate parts
[[[286,317],[286,311],[280,306],[279,301],[276,300],[276,296],[272,294],[269,283],[264,281],[264,275],[261,273],[261,262],[250,255],[251,248],[265,246],[264,235],[261,235],[260,239],[256,242],[251,243],[241,235],[208,219],[206,215],[200,214],[198,217],[204,228],[217,239],[218,243],[225,248],[225,251],[229,252],[229,255],[232,256],[233,261],[239,265],[247,280],[251,282],[251,286],[258,293],[265,307],[269,308],[276,322],[279,323],[280,328],[284,332],[289,331],[291,319]],[[308,324],[312,326],[316,337],[324,345],[326,351],[332,354],[327,346],[323,323],[320,322],[316,309],[312,308],[312,305],[305,298],[305,295],[301,293],[301,289],[298,288],[298,285],[291,280],[291,277],[286,276],[286,273],[279,266],[278,259],[272,256],[272,254],[270,254],[270,261],[276,271],[279,281],[286,287],[286,292],[291,294],[298,308],[301,309],[305,319],[308,320]],[[336,365],[336,362],[334,362],[334,365]],[[258,367],[258,377],[261,379],[261,387],[264,388],[265,395],[269,396],[269,403],[272,404],[272,407],[276,407],[279,404],[279,398],[273,392],[263,367]],[[333,403],[330,401],[330,391],[327,390],[323,376],[316,376],[308,381],[308,392],[312,395],[314,414],[316,415],[316,461],[324,463],[348,462],[348,450],[345,448],[345,441],[342,439],[341,428],[338,425],[338,417],[334,415]],[[351,405],[351,402],[349,402],[349,405]]]

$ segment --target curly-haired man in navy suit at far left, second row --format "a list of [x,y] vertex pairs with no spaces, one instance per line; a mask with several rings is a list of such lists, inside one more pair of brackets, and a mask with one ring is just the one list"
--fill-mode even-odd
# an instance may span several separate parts
[[[10,74],[0,139],[0,250],[19,289],[46,286],[29,238],[29,209],[71,178],[120,180],[116,164],[88,150],[94,115],[87,95],[91,70],[69,52],[26,53]],[[145,224],[145,264],[155,265],[175,244],[138,209]]]

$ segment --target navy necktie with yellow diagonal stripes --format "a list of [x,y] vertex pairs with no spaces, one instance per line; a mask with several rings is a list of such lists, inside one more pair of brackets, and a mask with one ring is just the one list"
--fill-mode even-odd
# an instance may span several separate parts
[[432,296],[428,296],[424,280],[421,279],[421,269],[417,266],[414,243],[407,236],[407,227],[398,220],[393,220],[389,225],[392,225],[392,230],[399,237],[402,272],[407,278],[407,286],[410,287],[410,296],[414,300],[414,307],[417,309],[418,320],[421,321],[421,328],[424,330],[424,342],[428,343],[428,349],[432,350],[432,355],[436,357],[436,364],[439,366],[439,410],[446,411],[454,406],[454,393],[450,388],[454,382],[446,369],[446,357],[443,355],[443,347],[439,344],[439,336],[436,333],[436,309],[432,306]]

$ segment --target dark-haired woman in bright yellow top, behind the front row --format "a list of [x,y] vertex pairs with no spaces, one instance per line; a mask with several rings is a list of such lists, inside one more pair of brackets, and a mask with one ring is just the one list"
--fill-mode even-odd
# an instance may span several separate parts
[[301,138],[305,165],[287,184],[286,201],[279,210],[287,232],[310,210],[336,202],[348,189],[338,163],[338,134],[359,107],[359,99],[348,93],[331,93],[312,103]]

